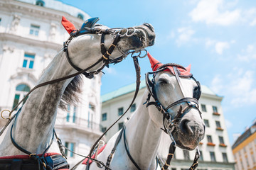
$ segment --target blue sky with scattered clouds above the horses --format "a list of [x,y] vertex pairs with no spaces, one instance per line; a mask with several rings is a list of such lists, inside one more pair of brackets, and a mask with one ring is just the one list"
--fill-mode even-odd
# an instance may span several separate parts
[[[256,118],[256,2],[254,0],[68,1],[99,23],[114,27],[151,23],[156,42],[148,47],[162,63],[187,66],[222,101],[230,143]],[[147,58],[139,60],[144,74]],[[105,69],[102,94],[135,82],[131,57]]]

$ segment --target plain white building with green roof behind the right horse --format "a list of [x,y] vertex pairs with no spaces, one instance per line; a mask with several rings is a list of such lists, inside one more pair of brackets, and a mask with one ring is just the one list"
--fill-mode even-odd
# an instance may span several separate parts
[[[135,86],[136,84],[130,84],[129,86],[124,86],[116,91],[101,96],[102,115],[100,123],[102,125],[102,131],[110,127],[110,125],[129,107],[129,103],[132,101],[134,95]],[[114,127],[107,132],[107,140],[122,128],[127,118],[136,110],[146,89],[145,81],[142,81],[140,88],[132,108],[124,115],[124,118],[119,120],[117,125],[114,125]],[[199,160],[198,170],[235,169],[233,153],[228,140],[228,132],[225,127],[224,115],[221,108],[223,97],[217,96],[206,86],[201,86],[201,89],[202,94],[199,103],[203,113],[203,120],[206,124],[206,136],[199,145],[201,158]],[[171,161],[171,169],[188,169],[193,163],[194,156],[195,151],[188,152],[177,148],[174,154],[174,160]]]

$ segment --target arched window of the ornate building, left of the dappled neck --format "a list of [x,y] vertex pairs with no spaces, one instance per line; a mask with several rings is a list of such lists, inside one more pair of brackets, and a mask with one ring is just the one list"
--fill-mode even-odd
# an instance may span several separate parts
[[[19,84],[18,86],[16,86],[13,108],[18,104],[19,101],[22,100],[22,98],[26,96],[28,91],[30,91],[30,87],[26,84]],[[23,103],[25,102],[26,100],[23,101]]]

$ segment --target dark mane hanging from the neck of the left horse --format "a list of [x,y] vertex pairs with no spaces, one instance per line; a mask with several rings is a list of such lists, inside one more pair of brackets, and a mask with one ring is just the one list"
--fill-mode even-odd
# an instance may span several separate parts
[[82,93],[82,76],[76,76],[66,87],[63,96],[60,99],[59,108],[67,110],[68,105],[76,106],[80,101],[79,94]]

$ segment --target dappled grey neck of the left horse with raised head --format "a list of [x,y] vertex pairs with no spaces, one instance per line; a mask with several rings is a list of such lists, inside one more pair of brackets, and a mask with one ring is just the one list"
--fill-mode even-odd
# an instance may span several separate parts
[[[37,84],[73,74],[63,52],[59,52],[48,65]],[[53,135],[60,98],[72,79],[42,86],[33,91],[18,114],[14,125],[14,140],[29,152],[44,152]],[[1,155],[23,154],[11,144],[10,126],[0,145]]]

